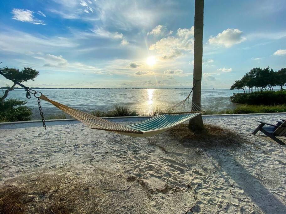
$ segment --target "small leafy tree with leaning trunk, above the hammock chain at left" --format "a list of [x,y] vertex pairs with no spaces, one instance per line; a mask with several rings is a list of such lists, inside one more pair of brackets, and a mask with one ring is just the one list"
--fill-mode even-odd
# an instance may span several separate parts
[[[12,81],[25,82],[28,80],[34,80],[35,77],[39,75],[39,71],[36,71],[30,67],[24,68],[21,71],[16,68],[3,67],[0,68],[0,74]],[[11,87],[8,86],[8,89],[4,92],[3,97],[0,98],[0,102],[4,101],[4,99],[8,96],[9,91],[13,91],[15,86],[15,82],[13,82]]]

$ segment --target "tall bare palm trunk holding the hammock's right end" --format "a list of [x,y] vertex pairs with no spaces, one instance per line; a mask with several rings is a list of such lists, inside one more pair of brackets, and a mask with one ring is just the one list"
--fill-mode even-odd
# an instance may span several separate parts
[[[201,86],[202,86],[202,36],[203,36],[203,7],[204,0],[195,0],[195,31],[194,31],[194,79],[192,101],[197,104],[201,110]],[[192,107],[194,111],[194,107]],[[189,121],[189,128],[193,131],[203,129],[202,115],[199,115]]]

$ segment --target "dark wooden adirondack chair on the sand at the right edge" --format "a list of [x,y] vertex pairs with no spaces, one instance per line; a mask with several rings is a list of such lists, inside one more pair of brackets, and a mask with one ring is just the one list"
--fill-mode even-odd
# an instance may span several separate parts
[[[252,132],[255,135],[258,131],[266,134],[269,138],[275,140],[280,145],[285,145],[284,142],[276,138],[276,136],[286,136],[286,120],[278,120],[276,125],[258,121],[260,125]],[[264,126],[267,125],[267,126]]]

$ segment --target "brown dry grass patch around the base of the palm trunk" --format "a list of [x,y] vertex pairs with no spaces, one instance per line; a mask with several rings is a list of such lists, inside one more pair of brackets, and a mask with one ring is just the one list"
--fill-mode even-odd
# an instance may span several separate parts
[[233,144],[239,142],[241,137],[235,132],[214,126],[210,124],[204,124],[204,130],[201,132],[194,133],[188,128],[188,124],[181,124],[170,130],[172,137],[175,137],[179,141],[195,140],[206,144],[225,143]]

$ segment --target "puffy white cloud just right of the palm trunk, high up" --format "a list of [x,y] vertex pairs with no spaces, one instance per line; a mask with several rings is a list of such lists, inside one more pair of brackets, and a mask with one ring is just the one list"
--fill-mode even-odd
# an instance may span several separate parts
[[242,36],[242,31],[239,29],[226,29],[216,37],[211,36],[208,39],[208,43],[213,45],[224,45],[228,48],[245,40],[246,37]]

